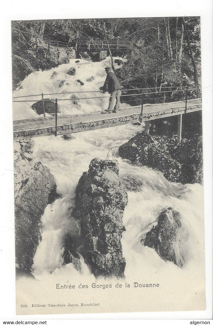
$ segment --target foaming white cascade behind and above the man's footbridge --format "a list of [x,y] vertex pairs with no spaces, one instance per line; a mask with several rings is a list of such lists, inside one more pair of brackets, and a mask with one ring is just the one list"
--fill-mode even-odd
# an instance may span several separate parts
[[[116,58],[114,58],[116,59]],[[105,110],[109,104],[109,94],[101,94],[99,92],[100,86],[104,84],[106,79],[106,72],[104,68],[110,66],[110,57],[100,62],[91,62],[85,59],[70,59],[69,63],[61,64],[57,68],[52,68],[47,71],[35,71],[28,75],[20,84],[20,86],[13,92],[13,97],[45,95],[44,98],[55,100],[59,99],[58,108],[59,115],[69,114],[84,114],[100,110]],[[115,69],[120,68],[117,63]],[[74,75],[69,75],[70,69],[75,70]],[[88,93],[83,93],[84,91]],[[65,94],[73,92],[72,94]],[[61,100],[75,97],[75,100]],[[93,98],[91,98],[93,97]],[[103,97],[103,98],[98,98]],[[90,98],[90,99],[80,99]],[[18,100],[41,100],[41,95],[30,98],[16,98]],[[22,120],[39,116],[33,109],[33,102],[13,103],[13,119]],[[129,106],[122,104],[123,106]],[[46,113],[46,116],[49,114]]]

